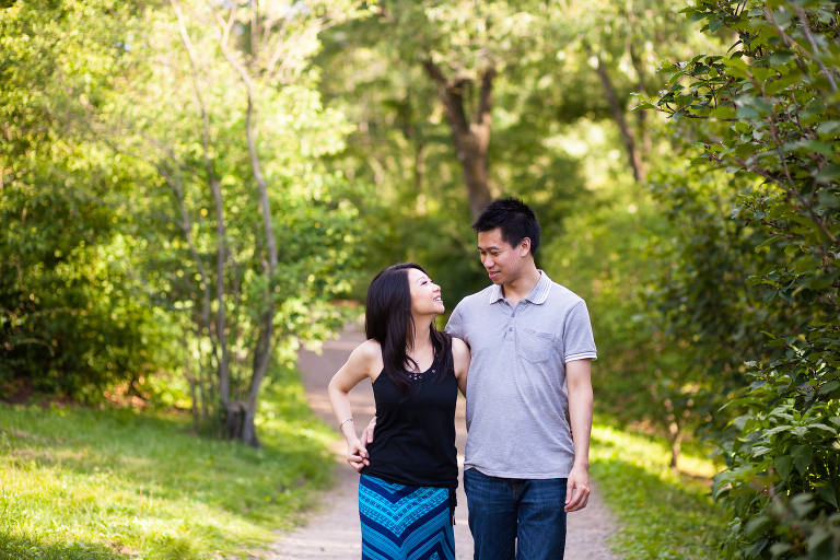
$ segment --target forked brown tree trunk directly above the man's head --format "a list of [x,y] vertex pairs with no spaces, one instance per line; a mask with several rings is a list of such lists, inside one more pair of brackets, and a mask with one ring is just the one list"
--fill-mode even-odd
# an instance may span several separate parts
[[487,68],[481,74],[478,112],[476,112],[475,118],[470,119],[464,108],[463,94],[464,90],[471,83],[467,80],[454,84],[450,83],[441,69],[430,59],[423,61],[423,68],[440,86],[439,97],[443,104],[443,113],[446,115],[452,130],[452,142],[455,144],[455,151],[464,172],[469,209],[472,218],[478,218],[481,210],[492,200],[489,188],[490,170],[487,149],[490,145],[495,69]]

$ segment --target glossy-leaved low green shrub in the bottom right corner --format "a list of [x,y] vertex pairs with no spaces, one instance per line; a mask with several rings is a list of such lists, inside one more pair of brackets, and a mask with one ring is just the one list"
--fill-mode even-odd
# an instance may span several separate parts
[[837,558],[840,328],[819,325],[770,343],[785,348],[784,358],[768,368],[748,362],[750,390],[731,402],[747,411],[733,421],[739,434],[726,445],[730,468],[715,477],[715,499],[737,515],[723,545],[746,558],[763,550]]

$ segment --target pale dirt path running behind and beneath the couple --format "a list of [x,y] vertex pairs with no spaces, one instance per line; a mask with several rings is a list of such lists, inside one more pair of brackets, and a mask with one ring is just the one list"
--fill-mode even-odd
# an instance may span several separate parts
[[[303,373],[303,383],[312,409],[327,423],[336,423],[327,397],[327,384],[343,365],[347,357],[364,336],[358,329],[348,329],[338,340],[324,345],[320,355],[302,350],[298,366]],[[350,392],[353,421],[357,430],[368,424],[374,415],[373,390],[370,382]],[[465,402],[458,399],[455,413],[457,429],[458,465],[463,469],[464,445],[467,441]],[[361,529],[359,525],[358,485],[359,475],[345,462],[346,445],[336,431],[336,462],[338,476],[336,486],[325,492],[322,508],[308,523],[283,535],[272,547],[272,560],[352,560],[361,558]],[[463,472],[462,472],[463,475]],[[472,558],[472,537],[467,526],[467,499],[463,480],[458,486],[458,508],[455,512],[455,555],[457,560]],[[616,560],[609,552],[605,539],[615,530],[609,512],[600,501],[597,489],[593,488],[590,504],[582,512],[569,515],[569,530],[565,547],[567,560]]]

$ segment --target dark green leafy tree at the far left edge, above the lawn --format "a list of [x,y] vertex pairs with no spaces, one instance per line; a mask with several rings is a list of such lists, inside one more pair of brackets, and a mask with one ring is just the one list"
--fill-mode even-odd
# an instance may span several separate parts
[[166,320],[129,298],[138,282],[120,266],[133,170],[61,118],[125,70],[120,49],[95,40],[114,32],[101,10],[0,11],[0,389],[28,383],[96,401],[127,384],[139,395],[173,360]]

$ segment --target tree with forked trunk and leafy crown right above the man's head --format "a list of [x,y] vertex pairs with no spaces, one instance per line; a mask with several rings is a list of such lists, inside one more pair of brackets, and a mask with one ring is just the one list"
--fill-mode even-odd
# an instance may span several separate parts
[[492,198],[488,150],[498,80],[523,59],[552,60],[556,48],[547,31],[553,32],[553,24],[544,23],[552,21],[549,15],[536,2],[394,1],[377,4],[363,24],[375,30],[366,36],[363,31],[365,46],[393,69],[405,68],[400,81],[422,90],[432,84],[474,218]]

